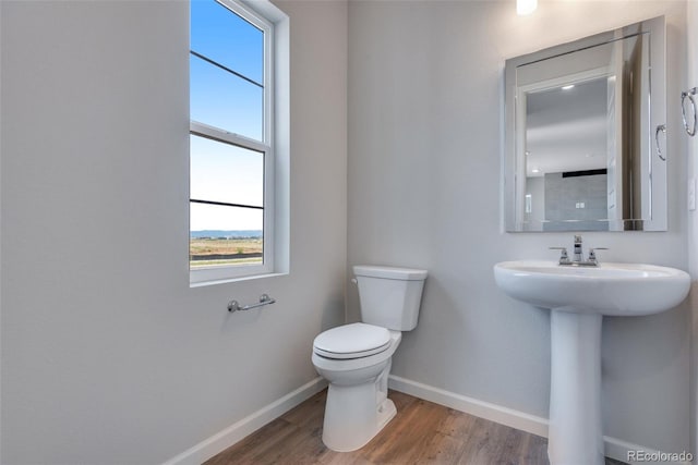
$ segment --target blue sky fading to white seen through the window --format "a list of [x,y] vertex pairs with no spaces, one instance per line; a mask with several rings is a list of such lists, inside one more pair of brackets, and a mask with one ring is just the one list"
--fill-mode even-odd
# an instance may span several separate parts
[[[190,47],[246,77],[190,54],[191,119],[263,142],[262,30],[215,0],[192,0]],[[194,135],[190,140],[191,198],[263,206],[262,154]],[[190,229],[261,230],[262,211],[191,204]]]

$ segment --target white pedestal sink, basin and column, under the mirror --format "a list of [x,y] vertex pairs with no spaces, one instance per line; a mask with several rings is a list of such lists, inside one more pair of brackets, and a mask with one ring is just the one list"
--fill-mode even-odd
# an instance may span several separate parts
[[603,464],[602,318],[675,307],[688,294],[688,274],[652,265],[525,260],[496,264],[494,278],[509,296],[551,309],[551,464]]

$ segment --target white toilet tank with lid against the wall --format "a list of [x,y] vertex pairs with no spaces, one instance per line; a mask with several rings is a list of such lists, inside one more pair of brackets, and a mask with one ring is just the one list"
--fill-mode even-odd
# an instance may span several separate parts
[[357,265],[361,321],[395,331],[417,326],[428,272],[411,268]]

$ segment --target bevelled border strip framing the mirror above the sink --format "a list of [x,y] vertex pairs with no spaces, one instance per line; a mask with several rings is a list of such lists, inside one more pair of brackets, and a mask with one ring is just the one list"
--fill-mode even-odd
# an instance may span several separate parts
[[[622,222],[619,231],[637,230],[638,224],[641,231],[666,231],[667,229],[667,194],[666,194],[666,161],[658,156],[658,148],[661,145],[661,152],[666,157],[666,137],[660,136],[660,129],[666,127],[666,22],[664,16],[658,16],[639,23],[630,24],[614,30],[595,34],[570,42],[553,46],[525,56],[506,60],[504,70],[504,154],[502,170],[503,186],[503,213],[504,230],[506,232],[549,232],[530,231],[524,228],[525,223],[517,220],[517,203],[524,206],[524,196],[517,196],[517,189],[526,186],[526,171],[521,170],[520,158],[517,147],[520,147],[521,137],[516,133],[517,114],[517,79],[516,70],[518,66],[530,64],[550,58],[569,54],[578,50],[610,44],[619,39],[649,33],[649,57],[650,65],[643,70],[649,82],[649,93],[642,98],[647,98],[649,114],[642,114],[641,135],[641,158],[646,166],[647,174],[642,179],[643,201],[641,205],[642,218],[624,218],[622,220],[607,220]],[[657,130],[657,134],[655,134]],[[659,138],[655,138],[659,137]],[[663,144],[662,144],[663,143]],[[522,158],[522,154],[521,154]],[[524,167],[525,168],[525,167]],[[522,174],[521,174],[522,173]],[[522,183],[517,181],[524,178]],[[646,179],[647,178],[647,179]],[[645,186],[647,182],[647,187]],[[646,200],[647,199],[647,200]],[[575,220],[556,221],[554,223],[573,223]],[[585,231],[577,229],[556,230],[561,231]],[[611,230],[609,230],[611,231]],[[601,231],[605,232],[605,231]],[[613,232],[613,231],[611,231]]]

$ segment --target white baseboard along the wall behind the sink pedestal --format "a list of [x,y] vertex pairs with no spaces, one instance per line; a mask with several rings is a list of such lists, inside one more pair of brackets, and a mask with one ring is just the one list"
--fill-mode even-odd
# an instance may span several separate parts
[[[465,412],[467,414],[489,419],[501,425],[520,429],[521,431],[547,438],[547,418],[529,415],[513,408],[503,407],[489,402],[479,401],[477,399],[456,394],[455,392],[445,391],[433,386],[423,384],[399,376],[390,375],[388,386],[390,389],[413,395],[435,404]],[[607,457],[615,458],[621,462],[628,463],[628,453],[641,451],[645,457],[661,457],[661,452],[654,449],[645,448],[642,445],[633,444],[607,436],[603,437],[604,453]],[[636,455],[637,456],[637,455]],[[636,463],[636,462],[629,462]],[[639,462],[638,462],[639,463]],[[643,461],[643,464],[666,463]],[[682,465],[690,465],[690,461],[674,462]]]

